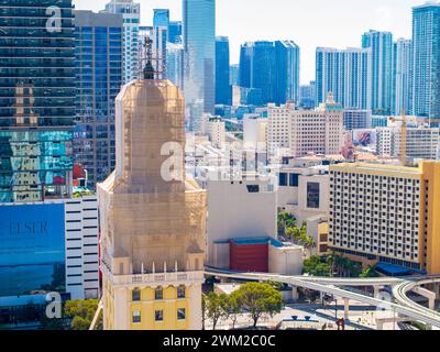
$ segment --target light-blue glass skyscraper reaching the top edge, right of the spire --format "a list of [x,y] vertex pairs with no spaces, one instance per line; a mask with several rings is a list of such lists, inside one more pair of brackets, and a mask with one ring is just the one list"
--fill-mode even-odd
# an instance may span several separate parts
[[185,100],[187,105],[202,103],[205,112],[213,113],[216,99],[216,0],[183,0],[183,8]]

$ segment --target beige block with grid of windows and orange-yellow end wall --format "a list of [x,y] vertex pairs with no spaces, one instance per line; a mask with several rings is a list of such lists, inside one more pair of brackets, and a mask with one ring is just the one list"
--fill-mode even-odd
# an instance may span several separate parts
[[440,272],[440,163],[330,166],[330,246],[367,265]]

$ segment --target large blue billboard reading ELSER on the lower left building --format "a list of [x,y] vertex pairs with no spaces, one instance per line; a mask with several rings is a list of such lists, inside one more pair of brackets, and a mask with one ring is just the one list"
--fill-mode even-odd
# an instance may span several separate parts
[[0,297],[65,292],[64,205],[0,207]]

